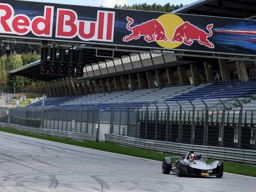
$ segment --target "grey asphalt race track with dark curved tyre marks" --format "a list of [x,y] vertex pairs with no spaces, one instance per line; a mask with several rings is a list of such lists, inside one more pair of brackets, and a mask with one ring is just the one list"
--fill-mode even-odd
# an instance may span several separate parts
[[163,175],[161,163],[0,132],[0,191],[255,191],[256,178]]

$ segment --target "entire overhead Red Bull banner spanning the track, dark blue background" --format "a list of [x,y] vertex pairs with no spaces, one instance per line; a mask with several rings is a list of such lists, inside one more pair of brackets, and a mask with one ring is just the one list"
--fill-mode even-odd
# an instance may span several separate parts
[[256,21],[6,0],[0,36],[256,56]]

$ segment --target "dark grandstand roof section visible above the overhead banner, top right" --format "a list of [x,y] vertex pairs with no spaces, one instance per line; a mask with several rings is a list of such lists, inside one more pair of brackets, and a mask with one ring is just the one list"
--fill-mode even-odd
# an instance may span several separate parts
[[200,0],[172,13],[256,19],[255,0]]

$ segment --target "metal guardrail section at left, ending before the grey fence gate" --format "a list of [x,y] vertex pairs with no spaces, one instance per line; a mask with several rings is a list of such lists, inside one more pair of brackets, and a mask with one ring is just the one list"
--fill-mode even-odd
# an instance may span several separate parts
[[58,130],[52,130],[52,129],[26,127],[22,125],[6,124],[2,122],[0,122],[0,127],[12,128],[18,131],[24,131],[24,132],[34,133],[34,134],[49,135],[49,136],[54,136],[58,138],[68,138],[72,140],[81,140],[81,141],[96,141],[96,134],[90,134],[90,133],[58,131]]

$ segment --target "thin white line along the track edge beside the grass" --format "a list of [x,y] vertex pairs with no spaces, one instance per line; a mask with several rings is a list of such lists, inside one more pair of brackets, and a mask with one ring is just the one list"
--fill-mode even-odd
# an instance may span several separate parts
[[[13,134],[13,133],[10,133],[10,132],[4,132],[4,133]],[[20,135],[20,134],[14,134],[14,135],[23,136],[23,135]],[[29,137],[29,136],[24,136],[24,137],[26,137],[26,138],[33,138],[33,137]],[[43,139],[39,139],[39,138],[33,138],[33,139],[42,140],[42,141],[49,141],[49,140],[43,140]],[[104,151],[104,150],[98,150],[98,149],[87,148],[87,147],[80,147],[80,146],[77,146],[77,145],[70,145],[70,144],[67,144],[67,143],[60,143],[60,142],[56,142],[56,141],[50,141],[50,142],[52,142],[52,143],[59,143],[59,144],[63,144],[63,145],[67,145],[67,146],[72,146],[72,147],[86,148],[86,149],[89,149],[89,150],[95,150],[97,152],[105,152],[105,153],[108,153],[108,154],[115,154],[115,155],[118,155],[118,156],[132,157],[134,159],[143,159],[143,160],[147,160],[147,161],[154,161],[154,162],[157,162],[157,163],[161,162],[161,161],[156,161],[156,160],[153,160],[153,159],[145,159],[145,158],[142,158],[142,157],[134,157],[134,156],[127,156],[127,155],[124,155],[124,154],[116,154],[116,153],[108,152],[108,151]],[[114,143],[114,144],[118,145],[117,143]],[[127,147],[127,146],[124,146],[124,147]],[[138,149],[141,149],[141,148],[138,148]],[[240,176],[240,177],[249,177],[249,178],[256,179],[256,177],[251,177],[251,176],[246,176],[246,175],[239,175],[239,174],[227,173],[227,172],[224,172],[224,173],[225,174],[229,174],[229,175],[237,175],[237,176]]]

